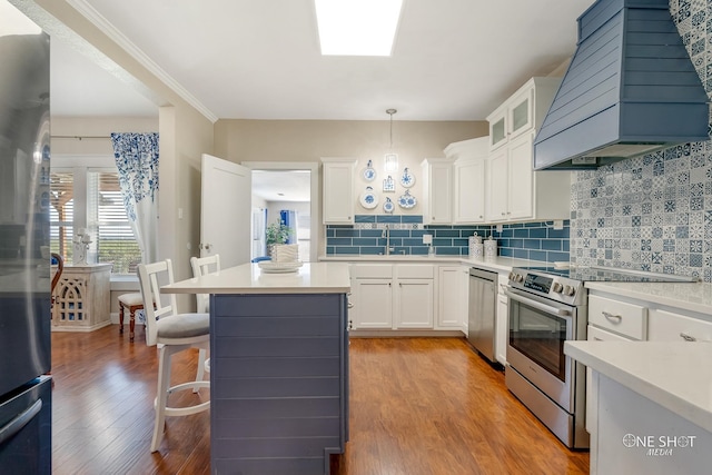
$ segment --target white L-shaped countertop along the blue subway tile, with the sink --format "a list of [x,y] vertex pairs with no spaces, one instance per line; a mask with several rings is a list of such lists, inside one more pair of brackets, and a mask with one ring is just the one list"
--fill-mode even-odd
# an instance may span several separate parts
[[[334,263],[379,263],[379,264],[404,264],[404,263],[429,263],[438,265],[447,264],[462,264],[473,267],[482,267],[494,271],[508,273],[512,267],[530,267],[530,266],[546,266],[547,263],[541,260],[517,259],[514,257],[486,257],[482,259],[471,259],[466,256],[416,256],[416,255],[399,255],[394,254],[390,256],[365,256],[365,255],[328,255],[319,256],[319,261],[334,261]],[[551,264],[548,264],[551,266]]]

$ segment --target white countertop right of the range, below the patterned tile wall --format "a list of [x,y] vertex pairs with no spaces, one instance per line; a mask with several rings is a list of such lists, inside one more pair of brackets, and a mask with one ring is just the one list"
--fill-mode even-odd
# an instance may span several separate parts
[[701,314],[712,314],[710,283],[586,283],[591,290],[637,298]]

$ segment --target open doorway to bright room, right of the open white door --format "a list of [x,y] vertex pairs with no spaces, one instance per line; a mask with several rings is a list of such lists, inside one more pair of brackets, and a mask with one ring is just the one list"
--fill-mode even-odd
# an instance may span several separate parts
[[318,165],[243,162],[253,170],[251,258],[266,255],[265,228],[284,222],[299,246],[299,260],[316,261],[318,253]]

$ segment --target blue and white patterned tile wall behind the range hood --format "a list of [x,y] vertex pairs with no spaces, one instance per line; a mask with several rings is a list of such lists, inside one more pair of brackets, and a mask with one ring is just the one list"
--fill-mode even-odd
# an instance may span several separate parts
[[[712,2],[671,0],[670,10],[712,97]],[[573,263],[712,281],[712,142],[576,171],[572,184]]]

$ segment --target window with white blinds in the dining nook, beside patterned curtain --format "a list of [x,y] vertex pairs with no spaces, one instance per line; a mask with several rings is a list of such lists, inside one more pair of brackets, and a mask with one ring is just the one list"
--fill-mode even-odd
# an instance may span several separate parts
[[[86,192],[81,192],[86,190]],[[141,251],[123,209],[116,169],[73,167],[51,174],[52,251],[71,259],[73,229],[91,236],[90,263],[113,264],[113,274],[135,274]]]

